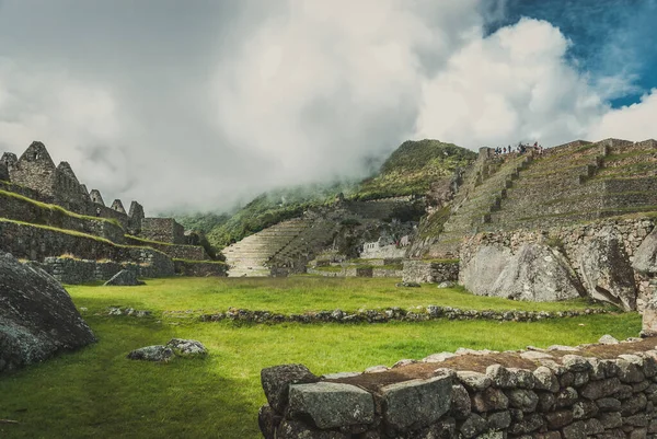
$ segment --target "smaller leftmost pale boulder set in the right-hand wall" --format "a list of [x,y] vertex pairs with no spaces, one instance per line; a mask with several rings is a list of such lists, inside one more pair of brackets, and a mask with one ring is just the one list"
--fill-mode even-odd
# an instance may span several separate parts
[[459,280],[474,294],[494,294],[493,286],[510,258],[511,251],[507,247],[483,245],[470,261],[462,261]]

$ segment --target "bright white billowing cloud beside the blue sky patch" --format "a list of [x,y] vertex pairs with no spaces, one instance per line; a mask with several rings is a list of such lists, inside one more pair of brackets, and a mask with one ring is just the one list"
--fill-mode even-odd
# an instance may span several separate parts
[[581,137],[604,107],[564,61],[568,44],[550,23],[527,19],[473,41],[424,82],[416,137],[470,148]]

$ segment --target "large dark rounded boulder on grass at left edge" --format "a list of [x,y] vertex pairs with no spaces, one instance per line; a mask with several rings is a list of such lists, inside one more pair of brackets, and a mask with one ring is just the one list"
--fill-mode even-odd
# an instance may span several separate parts
[[0,372],[93,342],[91,328],[59,282],[0,252]]

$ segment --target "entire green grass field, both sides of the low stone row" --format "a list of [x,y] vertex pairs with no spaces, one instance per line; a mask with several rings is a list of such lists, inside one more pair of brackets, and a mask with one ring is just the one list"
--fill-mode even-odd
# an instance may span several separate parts
[[[531,304],[477,298],[394,279],[159,279],[145,287],[69,287],[99,343],[0,378],[2,438],[257,438],[264,367],[301,362],[313,372],[362,370],[459,347],[518,349],[527,345],[596,342],[603,334],[635,336],[635,313],[539,323],[450,322],[240,325],[201,323],[182,310],[229,307],[299,312],[361,307],[450,304],[468,309],[556,310],[584,302]],[[150,317],[108,316],[110,305],[153,311]],[[193,314],[192,314],[193,315]],[[165,365],[130,361],[131,349],[195,338],[204,360]]]

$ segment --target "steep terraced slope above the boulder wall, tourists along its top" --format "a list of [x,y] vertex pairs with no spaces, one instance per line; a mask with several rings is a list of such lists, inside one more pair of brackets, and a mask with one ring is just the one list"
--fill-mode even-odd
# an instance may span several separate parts
[[549,228],[657,206],[654,141],[579,142],[535,155],[482,230]]

